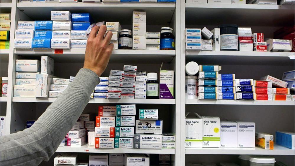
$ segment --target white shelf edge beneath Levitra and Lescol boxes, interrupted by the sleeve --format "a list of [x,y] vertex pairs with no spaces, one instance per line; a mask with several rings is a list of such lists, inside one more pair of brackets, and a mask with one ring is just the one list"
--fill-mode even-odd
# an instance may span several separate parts
[[[13,102],[54,102],[56,98],[13,97]],[[90,99],[89,103],[175,104],[175,99]]]

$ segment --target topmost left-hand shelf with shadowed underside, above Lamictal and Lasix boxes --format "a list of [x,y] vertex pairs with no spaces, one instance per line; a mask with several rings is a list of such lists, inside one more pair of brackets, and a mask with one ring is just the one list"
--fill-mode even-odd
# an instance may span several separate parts
[[[175,3],[17,3],[17,8],[35,20],[50,20],[51,11],[69,10],[89,12],[94,21],[120,21],[121,25],[131,24],[133,11],[146,11],[147,23],[163,25],[170,21]],[[38,14],[36,14],[38,13]],[[161,17],[163,19],[154,19]],[[99,20],[96,20],[98,19]],[[131,26],[129,26],[130,28]],[[122,27],[123,28],[123,27]],[[127,28],[127,27],[126,27]],[[123,28],[124,29],[124,28]]]

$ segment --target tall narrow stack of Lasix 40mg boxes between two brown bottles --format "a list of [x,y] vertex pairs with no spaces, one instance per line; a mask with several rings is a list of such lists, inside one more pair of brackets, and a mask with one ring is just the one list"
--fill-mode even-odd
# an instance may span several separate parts
[[146,49],[146,12],[133,12],[132,49]]

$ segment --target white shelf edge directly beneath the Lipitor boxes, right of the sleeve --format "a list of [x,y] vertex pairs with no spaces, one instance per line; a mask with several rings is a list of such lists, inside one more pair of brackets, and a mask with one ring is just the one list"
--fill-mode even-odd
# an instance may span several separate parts
[[79,153],[147,153],[147,154],[175,154],[175,149],[95,149],[93,146],[64,146],[58,147],[56,152],[79,152]]

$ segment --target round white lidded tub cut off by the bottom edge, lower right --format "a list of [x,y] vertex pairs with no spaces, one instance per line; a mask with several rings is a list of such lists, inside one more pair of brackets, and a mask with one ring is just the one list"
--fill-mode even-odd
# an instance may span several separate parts
[[250,166],[274,166],[275,158],[270,156],[251,156]]

